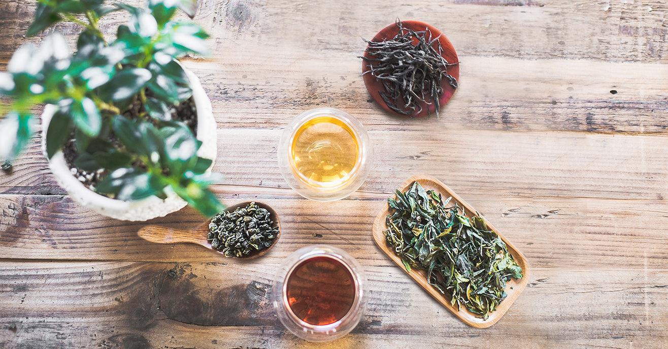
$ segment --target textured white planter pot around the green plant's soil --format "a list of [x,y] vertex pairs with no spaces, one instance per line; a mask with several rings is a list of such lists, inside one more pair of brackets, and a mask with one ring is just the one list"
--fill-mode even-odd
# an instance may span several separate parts
[[[216,160],[216,121],[213,119],[211,102],[199,79],[185,69],[186,75],[190,80],[190,88],[194,97],[195,107],[197,109],[197,139],[202,141],[202,147],[197,151],[200,157]],[[55,113],[54,105],[47,105],[42,113],[42,153],[46,157],[46,131],[49,128],[51,117]],[[213,163],[211,164],[213,167]],[[107,196],[100,195],[89,188],[86,188],[77,178],[75,178],[65,163],[65,157],[61,151],[53,155],[49,161],[49,169],[55,176],[55,180],[60,186],[67,190],[67,193],[73,200],[79,202],[104,216],[109,216],[122,220],[148,220],[151,218],[162,217],[171,212],[176,212],[186,206],[186,202],[178,197],[174,192],[167,192],[168,197],[165,200],[157,196],[151,196],[137,201],[122,201]],[[210,170],[211,168],[209,168]]]

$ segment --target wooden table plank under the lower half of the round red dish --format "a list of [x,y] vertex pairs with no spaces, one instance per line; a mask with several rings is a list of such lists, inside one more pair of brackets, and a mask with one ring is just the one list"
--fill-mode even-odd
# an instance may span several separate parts
[[237,127],[282,128],[323,105],[348,111],[371,131],[430,122],[448,129],[664,133],[668,124],[666,65],[472,56],[460,56],[460,87],[440,119],[391,117],[359,77],[353,55],[363,49],[333,51],[331,61],[297,47],[271,61],[232,51],[186,66],[200,76],[221,127],[233,120]]

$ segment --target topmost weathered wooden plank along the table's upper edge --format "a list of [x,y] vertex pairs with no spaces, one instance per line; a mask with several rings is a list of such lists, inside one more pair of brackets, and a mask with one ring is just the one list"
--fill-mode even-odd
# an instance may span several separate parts
[[[3,1],[0,5],[0,41],[5,44],[0,47],[0,57],[9,57],[25,41],[23,34],[35,5],[32,1]],[[373,37],[399,17],[434,25],[462,55],[665,63],[667,15],[668,8],[661,1],[417,0],[387,6],[377,1],[206,0],[199,1],[196,19],[214,34],[216,51],[224,53],[230,51],[222,49],[258,41],[270,47],[301,43],[324,51],[356,52],[360,37]],[[115,33],[125,17],[124,13],[109,15],[101,21],[102,30]],[[72,25],[58,29],[77,33]]]

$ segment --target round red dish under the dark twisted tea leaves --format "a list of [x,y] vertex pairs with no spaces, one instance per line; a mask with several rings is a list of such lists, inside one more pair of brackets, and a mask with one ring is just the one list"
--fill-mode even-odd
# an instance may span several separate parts
[[[406,29],[411,29],[413,31],[424,31],[427,29],[432,33],[432,38],[440,37],[438,38],[438,41],[441,44],[442,47],[442,54],[441,56],[448,61],[448,63],[458,63],[455,65],[450,65],[448,66],[448,74],[452,75],[457,81],[459,81],[459,59],[457,58],[457,53],[455,52],[455,48],[452,46],[452,43],[450,43],[450,40],[443,35],[438,29],[432,27],[431,25],[428,25],[427,23],[422,23],[418,21],[401,21],[401,25],[406,28]],[[381,42],[384,40],[392,39],[399,33],[399,27],[395,23],[392,23],[391,25],[388,25],[387,27],[383,28],[381,31],[379,31],[371,41],[374,42]],[[436,45],[434,43],[433,45]],[[367,58],[372,58],[371,55],[367,51],[364,51],[364,57]],[[392,113],[394,115],[400,115],[402,117],[424,117],[425,115],[430,115],[434,114],[436,115],[436,105],[434,103],[427,105],[426,103],[420,103],[422,107],[422,111],[420,113],[417,113],[415,115],[403,115],[396,113],[395,111],[389,109],[387,105],[385,104],[385,101],[383,101],[383,98],[380,97],[380,91],[383,91],[383,84],[378,81],[373,75],[370,73],[366,73],[369,71],[369,63],[366,60],[362,60],[362,73],[363,78],[364,78],[364,85],[366,85],[367,90],[369,90],[369,93],[371,94],[371,97],[373,97],[373,100],[376,101],[383,109],[386,111],[389,111],[389,113]],[[366,74],[365,74],[366,73]],[[448,83],[448,79],[442,79],[441,81],[441,87],[443,88],[443,95],[438,99],[440,103],[441,109],[450,101],[450,98],[452,98],[452,95],[454,95],[455,90],[452,86],[450,86],[450,83]]]

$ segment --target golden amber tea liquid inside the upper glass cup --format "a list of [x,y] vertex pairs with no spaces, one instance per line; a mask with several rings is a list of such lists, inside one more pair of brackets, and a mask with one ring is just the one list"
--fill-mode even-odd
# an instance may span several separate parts
[[301,125],[290,147],[293,171],[312,186],[329,188],[351,180],[359,167],[359,142],[351,128],[331,116]]

